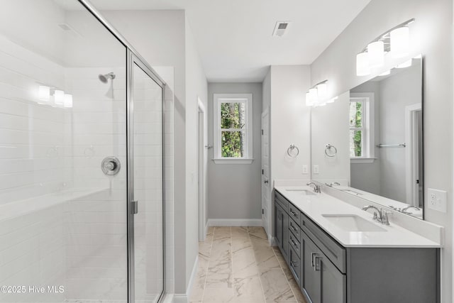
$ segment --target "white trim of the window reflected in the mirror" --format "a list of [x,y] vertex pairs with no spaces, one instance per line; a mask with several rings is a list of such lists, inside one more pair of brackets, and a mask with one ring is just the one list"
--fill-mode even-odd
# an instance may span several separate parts
[[[350,101],[355,99],[368,99],[363,104],[363,122],[365,122],[366,132],[363,134],[362,150],[365,150],[365,156],[350,157],[351,163],[373,163],[375,158],[375,94],[373,92],[352,92]],[[365,118],[365,119],[364,119]]]

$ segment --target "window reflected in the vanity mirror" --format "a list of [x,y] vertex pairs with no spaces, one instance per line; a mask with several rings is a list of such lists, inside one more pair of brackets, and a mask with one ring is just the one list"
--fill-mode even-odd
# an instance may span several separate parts
[[350,159],[351,162],[373,162],[375,159],[374,94],[350,94]]

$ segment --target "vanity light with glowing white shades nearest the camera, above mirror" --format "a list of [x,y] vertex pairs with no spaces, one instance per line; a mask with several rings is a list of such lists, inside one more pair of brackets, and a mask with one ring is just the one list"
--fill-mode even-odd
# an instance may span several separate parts
[[372,68],[384,65],[384,56],[391,53],[392,57],[405,57],[410,53],[409,24],[414,18],[391,28],[375,40],[372,40],[361,53],[356,55],[356,75],[370,75]]

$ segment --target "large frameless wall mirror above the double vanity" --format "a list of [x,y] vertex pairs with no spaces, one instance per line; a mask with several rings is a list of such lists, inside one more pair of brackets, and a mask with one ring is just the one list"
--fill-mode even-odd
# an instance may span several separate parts
[[312,179],[423,219],[422,56],[311,111]]

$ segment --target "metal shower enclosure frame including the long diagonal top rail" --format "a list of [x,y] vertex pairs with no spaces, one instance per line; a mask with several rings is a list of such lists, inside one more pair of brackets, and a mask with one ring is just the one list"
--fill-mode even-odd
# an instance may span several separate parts
[[162,292],[158,302],[165,294],[165,81],[157,74],[153,67],[133,48],[131,43],[119,33],[104,16],[88,0],[77,0],[109,31],[114,37],[126,47],[126,170],[127,172],[127,250],[128,250],[128,303],[135,303],[135,266],[134,266],[134,214],[132,214],[132,203],[134,201],[134,129],[133,129],[133,65],[136,64],[162,89]]

